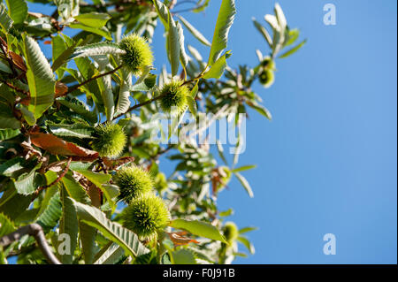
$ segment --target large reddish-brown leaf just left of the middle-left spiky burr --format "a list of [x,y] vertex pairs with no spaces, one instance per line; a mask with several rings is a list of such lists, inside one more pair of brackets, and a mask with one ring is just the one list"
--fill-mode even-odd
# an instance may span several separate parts
[[63,141],[57,136],[48,133],[31,133],[30,141],[32,141],[34,146],[45,149],[52,155],[79,156],[89,159],[96,159],[98,157],[96,151]]

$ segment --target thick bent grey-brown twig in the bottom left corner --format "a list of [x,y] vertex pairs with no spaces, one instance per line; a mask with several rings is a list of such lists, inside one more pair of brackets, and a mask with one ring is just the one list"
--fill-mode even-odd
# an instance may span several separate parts
[[51,252],[49,243],[47,242],[46,237],[44,236],[44,232],[42,232],[42,226],[38,224],[25,225],[20,227],[17,231],[5,235],[4,237],[0,238],[0,246],[7,247],[12,242],[21,239],[22,236],[24,235],[34,236],[37,245],[39,245],[42,254],[49,261],[49,263],[61,264],[58,261],[57,256],[55,256]]

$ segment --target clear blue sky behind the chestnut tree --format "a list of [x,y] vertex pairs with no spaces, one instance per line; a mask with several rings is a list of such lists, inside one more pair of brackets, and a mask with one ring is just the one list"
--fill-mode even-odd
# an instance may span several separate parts
[[[188,16],[209,39],[220,2]],[[274,3],[236,1],[231,67],[255,65],[255,50],[268,51],[251,18],[262,20]],[[336,26],[323,24],[327,3],[336,5]],[[309,41],[277,62],[272,88],[255,88],[273,115],[268,122],[251,112],[247,123],[240,164],[257,164],[243,172],[255,198],[233,180],[218,202],[221,210],[233,207],[231,219],[240,227],[259,227],[250,233],[256,255],[235,262],[397,263],[396,2],[279,4],[290,27],[300,27]],[[157,67],[166,64],[162,35],[159,23]],[[199,46],[188,35],[187,41]],[[336,235],[336,255],[322,251],[329,232]]]

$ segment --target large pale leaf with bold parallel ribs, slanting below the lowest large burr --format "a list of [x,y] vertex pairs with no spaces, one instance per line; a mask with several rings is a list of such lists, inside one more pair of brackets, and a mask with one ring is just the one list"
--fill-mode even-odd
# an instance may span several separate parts
[[149,249],[142,245],[134,232],[116,222],[112,222],[101,210],[74,200],[73,203],[81,221],[98,229],[109,240],[118,243],[120,247],[124,248],[126,254],[137,256],[149,252]]

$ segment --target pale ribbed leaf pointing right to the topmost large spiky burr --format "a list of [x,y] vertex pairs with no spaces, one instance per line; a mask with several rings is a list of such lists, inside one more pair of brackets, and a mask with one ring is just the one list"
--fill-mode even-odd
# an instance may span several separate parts
[[78,47],[69,59],[77,57],[94,57],[101,55],[122,55],[126,51],[119,49],[119,45],[113,42],[99,42]]

